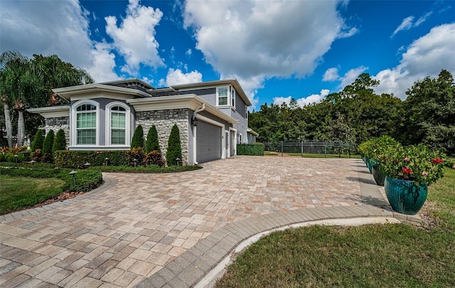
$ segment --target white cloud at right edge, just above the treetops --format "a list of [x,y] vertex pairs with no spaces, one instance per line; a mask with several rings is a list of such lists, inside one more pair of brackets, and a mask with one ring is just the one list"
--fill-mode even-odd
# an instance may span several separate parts
[[380,71],[373,78],[380,80],[377,93],[393,93],[405,99],[405,92],[415,81],[437,76],[442,69],[455,75],[455,23],[432,28],[402,54],[395,68]]

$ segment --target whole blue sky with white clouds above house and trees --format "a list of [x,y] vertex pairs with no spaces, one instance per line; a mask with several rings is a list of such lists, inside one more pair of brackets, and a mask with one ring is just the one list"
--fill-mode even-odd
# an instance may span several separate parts
[[455,75],[455,1],[0,0],[0,52],[58,55],[96,82],[237,78],[252,102],[320,102],[361,73],[406,98]]

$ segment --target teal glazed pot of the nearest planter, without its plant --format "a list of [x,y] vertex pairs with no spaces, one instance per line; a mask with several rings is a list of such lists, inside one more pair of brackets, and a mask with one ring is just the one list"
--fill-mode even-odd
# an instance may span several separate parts
[[390,206],[403,214],[417,214],[427,200],[428,185],[417,186],[414,181],[386,176],[384,188]]

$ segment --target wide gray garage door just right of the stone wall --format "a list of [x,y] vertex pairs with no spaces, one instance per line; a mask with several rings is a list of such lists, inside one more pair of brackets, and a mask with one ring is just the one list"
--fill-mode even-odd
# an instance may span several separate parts
[[221,127],[199,121],[196,134],[196,161],[221,159]]

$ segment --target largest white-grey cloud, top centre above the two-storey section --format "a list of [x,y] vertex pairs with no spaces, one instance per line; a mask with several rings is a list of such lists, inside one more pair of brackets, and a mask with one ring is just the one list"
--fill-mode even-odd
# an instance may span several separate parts
[[246,83],[245,92],[255,102],[264,80],[311,75],[333,41],[357,33],[344,23],[338,4],[188,0],[183,16],[205,61],[222,78]]

